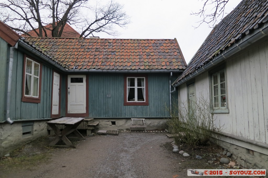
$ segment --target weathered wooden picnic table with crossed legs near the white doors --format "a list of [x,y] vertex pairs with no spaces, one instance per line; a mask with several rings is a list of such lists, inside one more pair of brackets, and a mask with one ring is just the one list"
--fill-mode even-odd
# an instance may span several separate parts
[[[64,141],[66,146],[62,147],[73,147],[76,148],[72,142],[66,137],[70,133],[74,133],[77,138],[85,139],[76,128],[79,126],[81,122],[83,122],[84,117],[62,117],[59,119],[55,119],[52,121],[48,121],[47,124],[53,129],[57,137],[54,141],[50,142],[49,146],[62,146],[56,145],[60,140]],[[65,128],[61,131],[56,125],[65,125]]]

